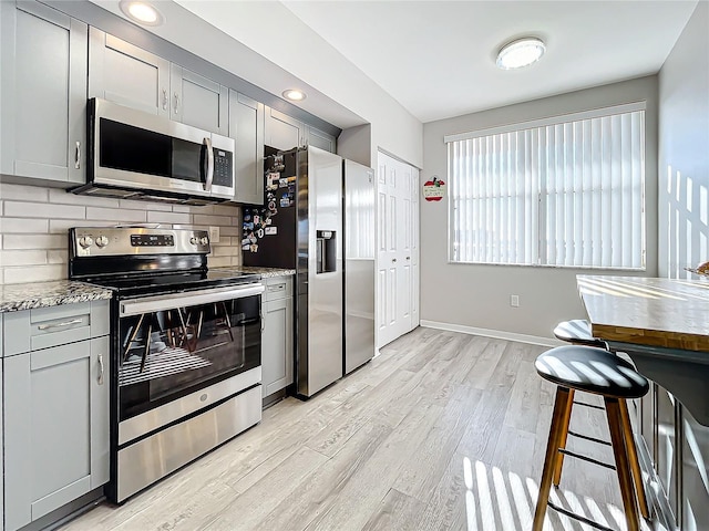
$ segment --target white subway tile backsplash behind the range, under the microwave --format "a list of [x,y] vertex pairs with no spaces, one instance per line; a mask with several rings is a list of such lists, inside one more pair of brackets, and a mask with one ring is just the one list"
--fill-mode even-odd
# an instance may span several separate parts
[[161,223],[163,227],[219,227],[220,240],[208,266],[242,263],[240,208],[195,207],[76,196],[58,188],[0,184],[0,284],[65,279],[71,227]]

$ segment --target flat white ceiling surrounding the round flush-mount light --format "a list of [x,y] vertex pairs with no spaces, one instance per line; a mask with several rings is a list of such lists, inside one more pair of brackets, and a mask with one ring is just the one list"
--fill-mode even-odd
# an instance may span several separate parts
[[[659,71],[697,1],[286,1],[421,122]],[[497,51],[547,52],[516,71]]]

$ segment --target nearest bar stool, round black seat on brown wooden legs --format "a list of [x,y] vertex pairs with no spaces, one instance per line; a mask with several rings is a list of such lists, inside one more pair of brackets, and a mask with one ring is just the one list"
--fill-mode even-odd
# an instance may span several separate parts
[[[637,502],[643,506],[641,500],[644,500],[644,496],[640,498],[640,492],[643,492],[641,479],[639,477],[639,468],[637,471],[631,470],[630,461],[633,459],[630,455],[635,451],[635,444],[633,441],[633,434],[629,430],[630,425],[627,417],[627,409],[620,404],[625,404],[625,400],[628,398],[639,398],[644,396],[649,388],[647,379],[638,374],[633,365],[625,360],[619,358],[606,350],[585,345],[557,346],[546,351],[536,358],[534,366],[540,376],[556,384],[557,387],[549,438],[544,458],[544,469],[542,471],[542,480],[540,481],[540,496],[532,530],[542,530],[546,506],[548,506],[567,517],[595,528],[610,531],[609,528],[605,525],[600,525],[597,522],[567,511],[548,501],[552,482],[558,486],[557,476],[561,478],[563,462],[561,457],[568,455],[616,470],[628,531],[639,531],[640,524],[636,499]],[[562,446],[562,440],[565,441],[568,435],[568,419],[571,418],[571,412],[574,405],[574,391],[583,391],[603,396],[606,417],[608,419],[608,429],[610,431],[610,446],[616,462],[615,467],[574,454]],[[607,444],[585,436],[584,438]],[[636,485],[640,485],[638,498],[636,498],[636,491],[633,486],[634,476]],[[647,507],[645,511],[647,511]]]

